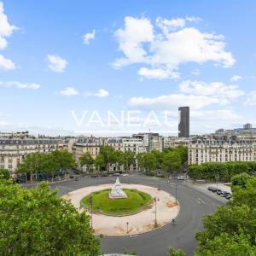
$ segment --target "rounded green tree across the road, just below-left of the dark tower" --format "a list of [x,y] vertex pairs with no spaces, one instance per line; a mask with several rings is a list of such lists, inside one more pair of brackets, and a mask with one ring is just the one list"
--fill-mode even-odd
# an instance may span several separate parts
[[162,166],[167,172],[175,173],[181,165],[181,156],[176,151],[170,151],[169,153],[164,154]]

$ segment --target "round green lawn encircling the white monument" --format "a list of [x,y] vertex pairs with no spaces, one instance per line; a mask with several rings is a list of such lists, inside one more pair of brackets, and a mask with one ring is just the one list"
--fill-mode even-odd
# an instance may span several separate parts
[[110,189],[96,191],[82,199],[82,205],[90,208],[90,197],[92,198],[92,209],[94,212],[102,212],[113,216],[130,215],[147,209],[151,196],[136,189],[123,189],[127,198],[111,199],[108,196]]

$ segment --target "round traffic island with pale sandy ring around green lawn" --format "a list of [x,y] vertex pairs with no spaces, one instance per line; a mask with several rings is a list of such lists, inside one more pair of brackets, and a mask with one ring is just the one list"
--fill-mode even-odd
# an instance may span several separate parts
[[[134,236],[159,229],[179,212],[169,193],[141,184],[122,184],[126,198],[110,198],[113,184],[101,184],[70,192],[63,197],[92,218],[96,235]],[[92,212],[91,212],[92,209]]]

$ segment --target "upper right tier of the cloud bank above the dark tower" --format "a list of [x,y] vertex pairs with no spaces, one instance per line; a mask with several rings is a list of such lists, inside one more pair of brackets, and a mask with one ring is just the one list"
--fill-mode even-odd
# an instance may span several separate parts
[[179,90],[183,93],[205,95],[214,97],[224,97],[234,99],[244,95],[244,92],[237,85],[224,84],[222,82],[204,83],[201,81],[183,81],[178,85]]

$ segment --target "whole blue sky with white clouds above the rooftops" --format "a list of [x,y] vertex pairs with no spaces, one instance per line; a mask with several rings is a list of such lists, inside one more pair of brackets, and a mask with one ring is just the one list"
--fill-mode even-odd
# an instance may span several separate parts
[[92,133],[93,111],[154,110],[175,134],[183,105],[193,134],[256,126],[253,0],[0,3],[0,131]]

